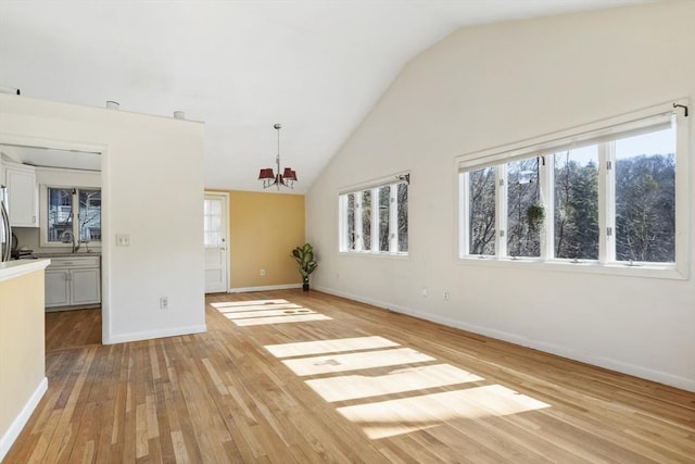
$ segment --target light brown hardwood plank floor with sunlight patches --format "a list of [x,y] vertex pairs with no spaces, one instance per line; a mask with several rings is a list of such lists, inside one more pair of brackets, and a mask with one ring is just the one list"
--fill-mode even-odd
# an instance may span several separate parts
[[99,311],[47,315],[3,463],[695,462],[693,393],[315,291],[207,303],[206,334],[105,347]]

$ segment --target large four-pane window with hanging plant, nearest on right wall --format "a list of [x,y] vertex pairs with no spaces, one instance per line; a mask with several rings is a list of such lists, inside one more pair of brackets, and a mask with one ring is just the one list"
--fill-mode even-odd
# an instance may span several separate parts
[[459,258],[683,276],[687,251],[679,237],[687,233],[677,234],[688,208],[683,113],[670,104],[462,156]]

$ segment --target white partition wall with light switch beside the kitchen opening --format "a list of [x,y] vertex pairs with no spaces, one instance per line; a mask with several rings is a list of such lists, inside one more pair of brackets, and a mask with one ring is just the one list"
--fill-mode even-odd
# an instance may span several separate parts
[[0,142],[102,152],[104,342],[205,330],[202,124],[0,95]]

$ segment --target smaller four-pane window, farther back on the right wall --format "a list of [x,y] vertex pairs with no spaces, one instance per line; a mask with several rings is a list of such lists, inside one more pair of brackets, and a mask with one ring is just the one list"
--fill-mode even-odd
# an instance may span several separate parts
[[408,252],[408,178],[340,196],[340,251]]

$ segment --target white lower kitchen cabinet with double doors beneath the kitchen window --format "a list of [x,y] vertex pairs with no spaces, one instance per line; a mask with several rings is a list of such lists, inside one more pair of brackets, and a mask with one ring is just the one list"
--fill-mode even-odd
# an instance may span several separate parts
[[77,309],[101,303],[99,256],[52,258],[46,268],[46,308]]

